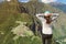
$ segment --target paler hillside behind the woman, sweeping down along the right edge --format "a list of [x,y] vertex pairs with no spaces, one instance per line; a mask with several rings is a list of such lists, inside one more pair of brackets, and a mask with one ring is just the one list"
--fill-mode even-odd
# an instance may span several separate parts
[[[55,40],[64,40],[66,38],[66,13],[64,13],[62,10],[57,9],[57,8],[54,8],[50,4],[44,4],[44,3],[41,3],[41,2],[28,2],[28,3],[22,3],[22,6],[24,8],[28,9],[28,11],[30,12],[30,14],[36,14],[36,13],[44,13],[46,10],[51,11],[51,12],[56,12],[56,13],[59,13],[59,16],[57,19],[57,22],[54,22],[54,30],[53,30],[53,33],[54,33],[54,38]],[[32,9],[32,10],[31,10]]]

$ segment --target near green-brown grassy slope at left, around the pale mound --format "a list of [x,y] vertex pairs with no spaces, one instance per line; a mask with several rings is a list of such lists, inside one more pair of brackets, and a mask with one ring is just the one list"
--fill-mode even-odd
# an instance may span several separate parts
[[[34,38],[32,36],[19,36],[19,38],[14,41],[13,37],[15,34],[13,34],[11,30],[19,25],[15,23],[15,21],[26,22],[26,26],[30,26],[33,23],[32,15],[29,15],[28,13],[20,13],[20,11],[18,11],[16,4],[11,4],[9,2],[1,3],[0,44],[36,44],[36,42],[40,42],[40,37],[36,36],[34,36]],[[36,42],[33,43],[34,41]]]

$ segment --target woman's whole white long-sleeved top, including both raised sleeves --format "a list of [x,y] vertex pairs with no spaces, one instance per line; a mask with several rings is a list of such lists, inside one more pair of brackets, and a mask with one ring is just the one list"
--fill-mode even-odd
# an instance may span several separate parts
[[[58,16],[58,14],[53,13],[52,21],[55,21],[55,19]],[[46,20],[44,19],[44,14],[36,14],[37,19],[42,22],[42,33],[43,34],[52,34],[52,26],[51,24],[46,24]]]

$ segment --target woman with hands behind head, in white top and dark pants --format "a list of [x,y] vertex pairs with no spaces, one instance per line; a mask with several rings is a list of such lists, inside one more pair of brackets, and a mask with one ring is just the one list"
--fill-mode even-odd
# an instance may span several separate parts
[[43,44],[52,44],[52,22],[58,16],[57,13],[41,13],[36,14],[36,18],[42,22],[42,41]]

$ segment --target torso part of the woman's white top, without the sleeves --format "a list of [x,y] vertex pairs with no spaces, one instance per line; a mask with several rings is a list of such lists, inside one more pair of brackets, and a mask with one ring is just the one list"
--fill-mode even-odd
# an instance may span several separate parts
[[42,21],[42,33],[43,34],[52,34],[52,26],[51,24],[46,24],[46,22]]

